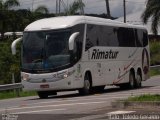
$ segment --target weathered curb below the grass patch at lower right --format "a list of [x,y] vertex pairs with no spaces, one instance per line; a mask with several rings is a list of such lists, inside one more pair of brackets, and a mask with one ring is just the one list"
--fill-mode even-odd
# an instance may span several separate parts
[[158,107],[160,108],[160,102],[153,102],[153,101],[144,101],[144,102],[135,102],[135,101],[116,101],[116,102],[112,102],[111,103],[112,108],[128,108],[128,107],[132,107],[132,108],[146,108],[146,107]]

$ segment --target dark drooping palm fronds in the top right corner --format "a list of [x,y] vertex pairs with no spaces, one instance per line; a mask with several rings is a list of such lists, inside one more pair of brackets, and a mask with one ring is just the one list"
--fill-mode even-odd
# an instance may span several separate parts
[[148,0],[146,9],[141,18],[144,24],[147,24],[148,20],[151,18],[151,29],[153,33],[157,35],[158,25],[160,23],[160,0]]

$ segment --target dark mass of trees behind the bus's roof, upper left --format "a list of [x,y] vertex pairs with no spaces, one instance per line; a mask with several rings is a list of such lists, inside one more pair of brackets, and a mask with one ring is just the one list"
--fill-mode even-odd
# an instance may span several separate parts
[[5,32],[23,31],[28,24],[37,19],[54,16],[48,14],[48,9],[45,6],[39,6],[35,11],[13,10],[15,6],[19,5],[18,0],[0,0],[0,33],[2,40]]

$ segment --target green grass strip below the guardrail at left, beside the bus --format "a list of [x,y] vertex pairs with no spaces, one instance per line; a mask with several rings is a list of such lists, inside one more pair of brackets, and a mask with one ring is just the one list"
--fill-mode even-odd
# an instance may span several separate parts
[[27,97],[27,96],[35,96],[36,92],[34,91],[20,91],[19,96],[17,96],[14,91],[3,91],[0,93],[0,100],[9,99],[9,98],[17,98],[17,97]]

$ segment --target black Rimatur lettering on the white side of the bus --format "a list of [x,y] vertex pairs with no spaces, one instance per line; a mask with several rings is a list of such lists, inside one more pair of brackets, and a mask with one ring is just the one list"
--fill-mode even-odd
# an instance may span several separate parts
[[99,49],[93,49],[91,59],[116,59],[118,51],[101,51]]

